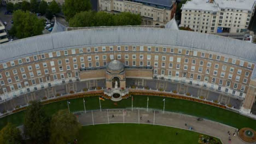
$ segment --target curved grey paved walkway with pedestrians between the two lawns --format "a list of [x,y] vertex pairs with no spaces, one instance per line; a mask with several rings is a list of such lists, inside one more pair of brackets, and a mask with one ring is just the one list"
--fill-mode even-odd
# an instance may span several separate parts
[[197,121],[197,117],[183,115],[180,113],[163,113],[162,111],[154,110],[148,110],[147,112],[146,109],[133,109],[133,111],[130,109],[112,109],[102,111],[87,111],[86,113],[81,112],[77,113],[77,115],[79,122],[82,125],[108,123],[143,123],[165,125],[182,129],[189,129],[189,127],[192,127],[193,131],[218,137],[222,140],[223,144],[229,143],[228,131],[230,131],[230,139],[232,144],[243,143],[237,137],[237,134],[236,136],[232,136],[232,134],[236,131],[235,128],[205,119],[203,119],[203,121]]

